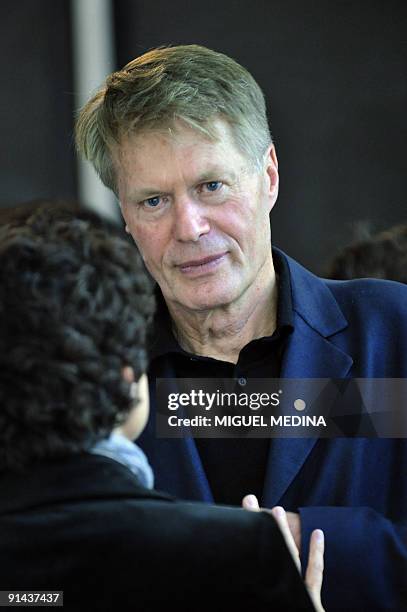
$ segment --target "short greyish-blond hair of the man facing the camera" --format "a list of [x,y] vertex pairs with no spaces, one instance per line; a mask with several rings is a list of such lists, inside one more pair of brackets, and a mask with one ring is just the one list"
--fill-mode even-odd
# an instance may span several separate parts
[[123,136],[184,121],[208,138],[211,123],[226,120],[237,147],[260,167],[271,143],[263,93],[230,57],[198,45],[158,48],[111,74],[82,109],[79,151],[117,193],[112,150]]

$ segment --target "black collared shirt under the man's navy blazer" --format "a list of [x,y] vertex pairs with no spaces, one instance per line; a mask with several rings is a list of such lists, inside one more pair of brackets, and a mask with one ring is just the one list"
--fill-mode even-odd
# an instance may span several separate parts
[[[294,329],[291,283],[283,256],[273,251],[278,283],[277,325],[271,336],[242,348],[236,364],[184,351],[175,339],[165,302],[157,294],[157,313],[150,341],[150,376],[164,377],[171,361],[177,378],[234,378],[244,387],[248,378],[278,378],[285,344]],[[196,438],[199,455],[215,502],[240,505],[254,493],[261,500],[270,440],[263,438]]]

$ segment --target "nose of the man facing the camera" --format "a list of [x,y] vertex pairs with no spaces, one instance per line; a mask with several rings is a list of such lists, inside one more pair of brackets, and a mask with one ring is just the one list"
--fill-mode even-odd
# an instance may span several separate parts
[[175,204],[174,237],[181,242],[197,242],[210,231],[204,206],[189,198],[182,198]]

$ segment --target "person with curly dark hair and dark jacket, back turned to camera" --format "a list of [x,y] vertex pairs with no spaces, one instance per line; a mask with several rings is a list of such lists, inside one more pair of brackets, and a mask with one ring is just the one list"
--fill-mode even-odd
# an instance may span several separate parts
[[[130,441],[154,312],[136,249],[40,208],[0,227],[0,261],[0,590],[63,590],[75,611],[312,610],[284,514],[152,490]],[[319,610],[322,556],[317,533]]]

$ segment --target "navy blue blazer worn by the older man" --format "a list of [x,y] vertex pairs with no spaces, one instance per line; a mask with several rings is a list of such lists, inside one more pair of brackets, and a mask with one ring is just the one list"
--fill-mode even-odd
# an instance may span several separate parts
[[[324,280],[280,255],[295,316],[283,378],[407,377],[405,285]],[[170,359],[159,371],[153,362],[140,446],[157,488],[213,502],[194,440],[155,436],[154,379],[174,376]],[[407,440],[273,439],[261,503],[300,513],[303,568],[311,531],[324,530],[328,611],[407,610]]]

